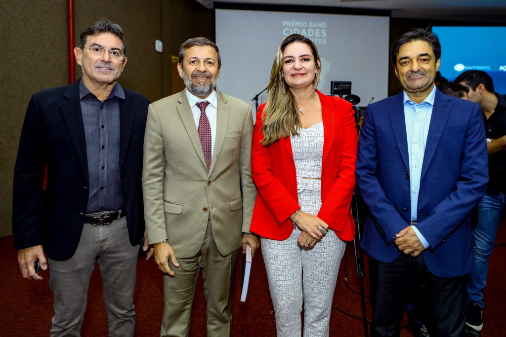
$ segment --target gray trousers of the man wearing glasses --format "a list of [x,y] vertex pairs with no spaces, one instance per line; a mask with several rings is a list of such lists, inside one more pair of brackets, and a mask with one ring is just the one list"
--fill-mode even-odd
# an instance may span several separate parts
[[130,244],[126,217],[109,225],[85,223],[74,255],[66,261],[49,260],[55,310],[51,336],[80,336],[95,261],[100,266],[109,336],[133,336],[138,253],[139,246]]

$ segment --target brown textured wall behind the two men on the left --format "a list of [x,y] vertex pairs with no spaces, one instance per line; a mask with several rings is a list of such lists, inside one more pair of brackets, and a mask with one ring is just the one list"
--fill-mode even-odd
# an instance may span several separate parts
[[[154,101],[172,93],[171,56],[181,42],[199,35],[215,40],[214,17],[193,0],[74,0],[75,44],[100,18],[121,25],[128,62],[120,83]],[[33,92],[68,84],[67,1],[2,1],[0,38],[0,236],[5,236],[12,233],[12,178],[28,101]],[[154,50],[155,39],[163,41],[162,54]]]

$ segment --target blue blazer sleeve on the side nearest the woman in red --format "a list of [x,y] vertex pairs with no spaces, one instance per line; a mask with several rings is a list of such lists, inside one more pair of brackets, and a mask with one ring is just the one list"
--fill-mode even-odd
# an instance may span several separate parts
[[357,185],[372,221],[380,229],[387,244],[408,223],[397,212],[394,204],[387,198],[378,180],[377,135],[374,126],[372,107],[366,110],[357,151]]

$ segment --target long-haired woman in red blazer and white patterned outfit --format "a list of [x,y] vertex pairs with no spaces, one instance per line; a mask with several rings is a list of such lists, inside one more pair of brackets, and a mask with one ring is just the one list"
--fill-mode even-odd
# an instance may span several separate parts
[[292,34],[278,50],[251,155],[258,196],[250,230],[261,236],[278,336],[328,336],[344,240],[355,233],[357,129],[350,103],[316,90],[314,43]]

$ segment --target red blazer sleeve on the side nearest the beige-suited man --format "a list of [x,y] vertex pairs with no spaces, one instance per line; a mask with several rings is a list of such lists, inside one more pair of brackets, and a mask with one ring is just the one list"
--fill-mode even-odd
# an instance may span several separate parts
[[251,153],[251,173],[257,191],[263,203],[272,214],[279,226],[285,222],[293,212],[301,207],[292,198],[286,187],[272,174],[272,162],[269,147],[260,143],[264,139],[262,132],[263,109],[257,113],[253,149]]

